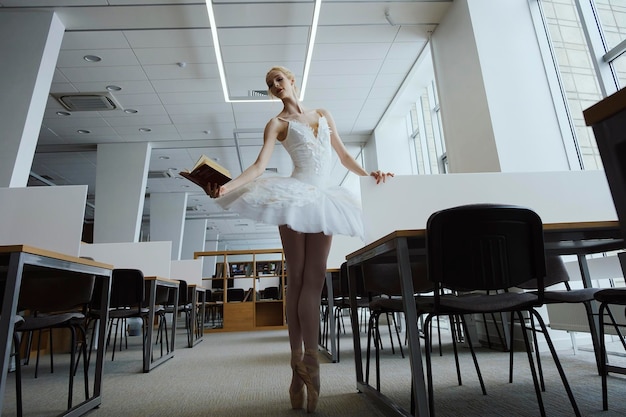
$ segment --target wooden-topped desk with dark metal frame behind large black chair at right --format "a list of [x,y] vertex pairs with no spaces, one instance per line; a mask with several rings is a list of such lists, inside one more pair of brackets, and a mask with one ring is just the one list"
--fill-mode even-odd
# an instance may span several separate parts
[[[618,222],[584,222],[558,223],[544,225],[546,252],[551,254],[576,254],[581,265],[581,272],[586,265],[585,255],[604,251],[617,250],[624,247],[624,240],[619,231]],[[411,277],[411,260],[424,261],[426,256],[425,230],[398,230],[378,239],[375,242],[346,256],[348,277],[350,282],[350,309],[352,312],[352,335],[354,343],[354,360],[356,366],[357,389],[377,402],[385,409],[385,415],[410,416],[383,393],[376,391],[363,378],[363,360],[361,351],[360,326],[356,304],[356,273],[355,268],[364,262],[397,263],[400,271],[404,312],[407,323],[417,323],[417,312],[413,302],[413,281]],[[585,269],[584,282],[590,285],[589,270]],[[409,360],[411,365],[411,381],[413,400],[416,404],[415,415],[429,416],[428,394],[424,382],[421,346],[416,326],[407,326],[409,342]],[[409,391],[407,387],[407,391]]]

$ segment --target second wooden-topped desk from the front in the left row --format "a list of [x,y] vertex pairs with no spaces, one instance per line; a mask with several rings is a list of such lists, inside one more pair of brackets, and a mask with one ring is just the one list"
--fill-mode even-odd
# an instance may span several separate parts
[[148,313],[148,332],[146,334],[146,343],[143,351],[143,371],[150,372],[153,368],[174,357],[174,347],[176,346],[176,313],[172,314],[171,338],[169,340],[170,345],[167,348],[167,352],[161,357],[155,359],[152,345],[154,341],[154,310],[156,305],[157,287],[167,287],[174,290],[174,311],[178,311],[178,281],[162,277],[144,277],[144,280],[149,284],[148,308],[150,309],[150,312]]

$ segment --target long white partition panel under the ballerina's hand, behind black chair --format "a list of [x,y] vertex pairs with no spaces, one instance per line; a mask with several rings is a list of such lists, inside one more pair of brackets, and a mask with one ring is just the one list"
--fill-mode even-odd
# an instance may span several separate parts
[[603,171],[407,175],[361,179],[366,240],[424,229],[435,211],[462,204],[515,204],[544,223],[617,220]]

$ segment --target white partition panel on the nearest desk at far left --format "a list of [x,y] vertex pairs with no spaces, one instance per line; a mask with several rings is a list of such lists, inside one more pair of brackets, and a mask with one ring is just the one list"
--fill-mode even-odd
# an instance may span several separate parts
[[0,245],[78,256],[87,186],[0,188]]

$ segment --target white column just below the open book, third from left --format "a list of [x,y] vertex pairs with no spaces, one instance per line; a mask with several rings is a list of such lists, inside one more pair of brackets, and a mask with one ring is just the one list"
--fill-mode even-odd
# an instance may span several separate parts
[[180,260],[187,193],[150,194],[150,240],[172,242],[172,260]]

